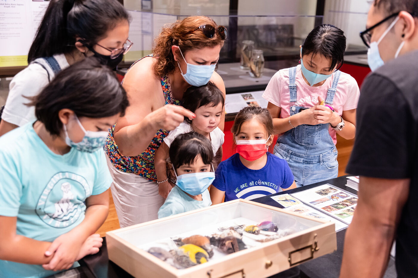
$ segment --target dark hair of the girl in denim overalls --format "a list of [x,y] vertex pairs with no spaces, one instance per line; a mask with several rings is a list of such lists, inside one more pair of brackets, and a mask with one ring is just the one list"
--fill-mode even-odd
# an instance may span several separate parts
[[346,46],[344,32],[333,25],[322,24],[316,26],[305,39],[302,45],[302,56],[319,54],[331,59],[330,70],[344,63]]

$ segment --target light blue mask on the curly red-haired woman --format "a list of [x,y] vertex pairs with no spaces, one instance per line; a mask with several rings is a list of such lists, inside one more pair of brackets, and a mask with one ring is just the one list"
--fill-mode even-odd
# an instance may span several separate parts
[[[180,50],[180,48],[178,49]],[[180,50],[180,53],[181,53],[181,50]],[[181,53],[181,56],[184,59],[183,53]],[[184,59],[184,61],[186,62],[186,59]],[[199,65],[192,65],[186,62],[187,64],[186,74],[183,74],[183,71],[181,71],[180,63],[178,61],[177,63],[178,63],[178,67],[180,68],[180,72],[184,80],[187,83],[189,83],[191,86],[196,86],[196,87],[206,85],[209,82],[216,66],[216,64],[210,65],[210,66],[199,66]]]

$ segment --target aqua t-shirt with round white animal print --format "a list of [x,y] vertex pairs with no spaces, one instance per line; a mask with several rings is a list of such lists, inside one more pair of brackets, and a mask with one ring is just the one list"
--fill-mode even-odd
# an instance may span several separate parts
[[[84,220],[84,201],[112,182],[103,149],[52,152],[33,122],[0,137],[0,215],[17,217],[16,233],[54,241]],[[0,277],[45,277],[41,265],[0,260]]]

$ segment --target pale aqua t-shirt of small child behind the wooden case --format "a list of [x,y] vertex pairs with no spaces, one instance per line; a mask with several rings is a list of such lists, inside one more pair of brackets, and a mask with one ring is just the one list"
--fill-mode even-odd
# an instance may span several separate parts
[[209,190],[206,189],[205,192],[202,193],[202,200],[198,201],[192,199],[178,186],[175,186],[170,193],[168,193],[166,201],[158,210],[158,218],[197,210],[201,207],[209,207],[210,205],[212,205],[212,201],[210,200]]

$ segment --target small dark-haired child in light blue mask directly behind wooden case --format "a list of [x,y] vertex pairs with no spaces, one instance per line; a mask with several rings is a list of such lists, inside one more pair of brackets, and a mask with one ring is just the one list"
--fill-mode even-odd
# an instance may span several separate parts
[[177,181],[158,210],[158,218],[212,205],[208,187],[215,173],[209,139],[194,131],[180,134],[171,143],[168,154]]

